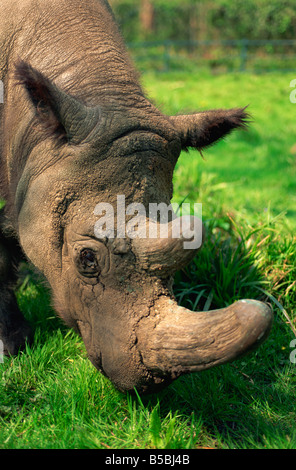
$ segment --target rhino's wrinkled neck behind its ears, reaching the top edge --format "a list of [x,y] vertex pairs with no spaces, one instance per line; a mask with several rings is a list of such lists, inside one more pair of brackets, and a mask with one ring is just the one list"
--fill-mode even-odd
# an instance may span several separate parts
[[18,9],[10,20],[17,32],[11,41],[8,73],[17,60],[25,60],[90,106],[104,97],[142,96],[138,74],[107,2],[14,3]]

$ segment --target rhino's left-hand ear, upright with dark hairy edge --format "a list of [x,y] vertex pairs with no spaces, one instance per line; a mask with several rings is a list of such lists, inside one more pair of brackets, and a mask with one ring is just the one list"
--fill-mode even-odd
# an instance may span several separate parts
[[85,106],[26,62],[15,66],[15,77],[25,87],[47,135],[63,143],[78,144],[98,123],[98,107]]

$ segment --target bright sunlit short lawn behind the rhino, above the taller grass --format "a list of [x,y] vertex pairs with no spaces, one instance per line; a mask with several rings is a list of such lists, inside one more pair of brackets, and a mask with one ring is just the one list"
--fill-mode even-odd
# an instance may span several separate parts
[[295,228],[296,105],[289,100],[293,78],[277,73],[212,76],[205,72],[145,77],[145,88],[165,113],[248,105],[253,121],[248,132],[236,132],[207,150],[205,160],[195,151],[182,155],[175,173],[178,201],[187,196],[197,202],[200,196],[198,202],[206,210],[208,202],[199,194],[200,186],[209,192],[219,184],[223,189],[219,196],[228,210],[251,220],[267,208],[274,215],[284,211]]

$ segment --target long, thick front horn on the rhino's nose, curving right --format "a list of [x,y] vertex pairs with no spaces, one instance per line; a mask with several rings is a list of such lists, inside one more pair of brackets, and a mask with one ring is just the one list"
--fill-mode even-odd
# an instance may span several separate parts
[[143,364],[158,377],[209,369],[258,347],[272,326],[263,302],[240,300],[210,312],[192,312],[168,297],[159,298],[154,314],[137,328]]

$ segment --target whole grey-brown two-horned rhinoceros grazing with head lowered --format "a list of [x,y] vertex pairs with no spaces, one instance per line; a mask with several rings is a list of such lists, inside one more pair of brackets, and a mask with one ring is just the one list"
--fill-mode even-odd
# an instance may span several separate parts
[[[173,216],[153,221],[157,230],[166,225],[166,237],[116,230],[118,196],[146,208],[148,225],[150,204],[170,204],[181,151],[202,151],[244,128],[245,108],[162,113],[146,98],[105,0],[2,0],[0,18],[4,353],[32,341],[13,291],[24,257],[119,390],[152,393],[256,348],[271,328],[265,303],[193,312],[174,298],[174,274],[200,248],[184,244],[193,215],[183,216],[179,237]],[[114,208],[115,231],[100,238],[101,203]]]

